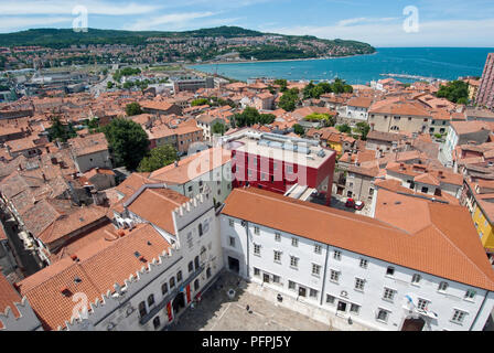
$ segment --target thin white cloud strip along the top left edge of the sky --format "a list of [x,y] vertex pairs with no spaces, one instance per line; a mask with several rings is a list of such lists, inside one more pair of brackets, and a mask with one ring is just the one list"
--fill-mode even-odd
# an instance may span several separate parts
[[160,9],[158,6],[140,4],[136,2],[111,3],[97,0],[28,0],[28,1],[4,1],[0,0],[0,14],[2,15],[33,15],[33,14],[72,14],[72,10],[77,6],[87,8],[89,14],[105,15],[128,15],[150,13]]

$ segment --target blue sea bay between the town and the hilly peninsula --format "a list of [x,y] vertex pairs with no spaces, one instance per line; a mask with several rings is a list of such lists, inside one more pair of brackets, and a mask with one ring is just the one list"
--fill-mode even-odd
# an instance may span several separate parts
[[[437,79],[482,76],[491,47],[377,47],[370,55],[350,57],[246,62],[191,65],[201,72],[244,81],[254,77],[289,81],[331,81],[343,78],[352,85],[387,78],[384,74],[412,75]],[[396,79],[410,83],[417,77]]]

